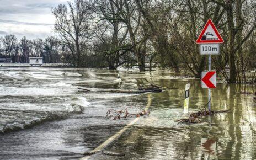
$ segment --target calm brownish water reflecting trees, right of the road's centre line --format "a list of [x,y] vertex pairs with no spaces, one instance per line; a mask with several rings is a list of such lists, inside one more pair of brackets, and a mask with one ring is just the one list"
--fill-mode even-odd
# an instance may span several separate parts
[[208,122],[201,125],[175,126],[173,121],[184,116],[185,84],[192,84],[190,113],[207,103],[207,90],[195,80],[159,79],[154,83],[177,89],[152,94],[151,118],[141,120],[107,150],[126,153],[122,159],[255,158],[255,102],[252,96],[238,93],[254,90],[254,86],[218,84],[212,90],[212,109],[231,109],[230,113],[207,116],[204,120]]

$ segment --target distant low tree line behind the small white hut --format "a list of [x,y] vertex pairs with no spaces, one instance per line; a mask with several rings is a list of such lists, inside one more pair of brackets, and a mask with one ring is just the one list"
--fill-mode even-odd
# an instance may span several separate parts
[[1,37],[0,58],[11,58],[13,63],[28,63],[29,57],[44,57],[45,63],[61,61],[61,42],[54,36],[28,40],[25,36],[19,41],[15,35]]

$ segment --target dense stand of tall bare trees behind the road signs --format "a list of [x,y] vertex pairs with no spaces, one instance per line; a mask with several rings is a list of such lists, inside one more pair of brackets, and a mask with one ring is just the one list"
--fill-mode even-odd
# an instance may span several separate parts
[[211,18],[225,39],[221,54],[212,56],[214,70],[228,83],[256,83],[255,1],[74,0],[52,13],[66,57],[77,67],[160,67],[196,78],[207,56],[195,41]]

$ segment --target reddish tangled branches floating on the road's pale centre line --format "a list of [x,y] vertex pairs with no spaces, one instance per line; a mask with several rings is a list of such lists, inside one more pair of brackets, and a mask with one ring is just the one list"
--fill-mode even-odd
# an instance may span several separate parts
[[150,111],[143,110],[138,114],[131,114],[131,113],[128,113],[128,109],[126,108],[126,109],[122,109],[120,111],[114,110],[114,109],[109,109],[106,112],[106,118],[113,118],[113,120],[121,119],[121,118],[129,118],[132,116],[140,117],[140,116],[144,116],[144,115],[150,115]]

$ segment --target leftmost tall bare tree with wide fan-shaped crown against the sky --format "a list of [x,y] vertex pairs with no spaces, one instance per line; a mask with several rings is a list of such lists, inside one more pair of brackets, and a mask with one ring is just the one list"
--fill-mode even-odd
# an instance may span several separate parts
[[75,0],[67,6],[59,4],[52,8],[55,15],[55,31],[68,46],[76,66],[82,66],[82,54],[85,54],[86,39],[89,35],[89,17],[92,9],[89,1]]

